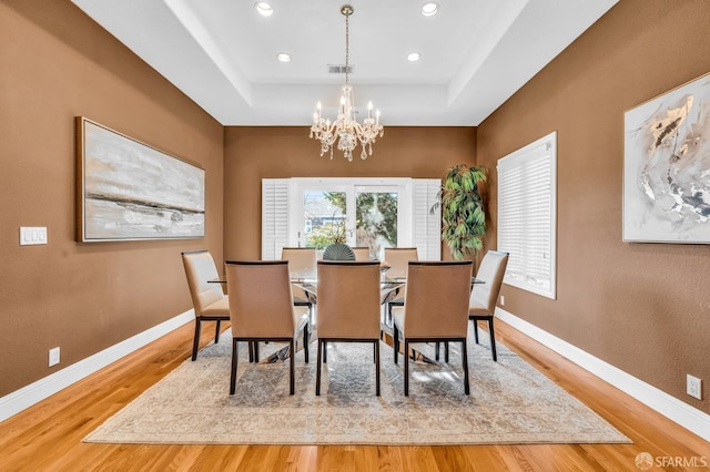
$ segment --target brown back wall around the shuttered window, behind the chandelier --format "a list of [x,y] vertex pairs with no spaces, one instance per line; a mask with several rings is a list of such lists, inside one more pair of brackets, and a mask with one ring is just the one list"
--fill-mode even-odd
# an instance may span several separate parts
[[353,162],[337,151],[321,156],[307,127],[232,126],[224,140],[224,255],[235,259],[261,257],[262,178],[440,178],[476,158],[473,127],[385,127],[373,155]]

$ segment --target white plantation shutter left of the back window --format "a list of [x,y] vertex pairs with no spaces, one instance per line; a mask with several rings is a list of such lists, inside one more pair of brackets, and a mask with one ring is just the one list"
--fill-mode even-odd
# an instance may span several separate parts
[[288,246],[288,181],[262,179],[262,260],[280,259]]

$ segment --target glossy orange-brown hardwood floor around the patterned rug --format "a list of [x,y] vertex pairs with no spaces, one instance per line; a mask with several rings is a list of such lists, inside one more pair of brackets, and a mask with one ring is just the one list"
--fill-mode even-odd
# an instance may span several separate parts
[[[205,328],[203,346],[213,335]],[[192,325],[186,325],[0,423],[0,471],[635,471],[639,470],[635,460],[640,452],[650,453],[656,463],[665,462],[668,466],[663,470],[710,469],[710,443],[498,320],[496,331],[501,342],[633,443],[467,447],[82,443],[89,432],[190,357],[192,330]],[[229,376],[225,389],[227,380]]]

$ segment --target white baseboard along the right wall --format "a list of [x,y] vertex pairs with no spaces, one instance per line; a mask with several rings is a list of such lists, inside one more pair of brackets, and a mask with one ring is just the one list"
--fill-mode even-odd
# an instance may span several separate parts
[[710,414],[678,400],[676,397],[637,379],[501,308],[496,308],[496,317],[552,349],[560,356],[571,360],[582,369],[588,370],[619,390],[630,394],[666,418],[692,431],[706,441],[710,441]]

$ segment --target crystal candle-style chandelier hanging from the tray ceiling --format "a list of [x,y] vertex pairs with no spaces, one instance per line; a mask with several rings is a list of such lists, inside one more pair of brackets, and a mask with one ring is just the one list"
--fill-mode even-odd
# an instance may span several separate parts
[[311,137],[321,142],[321,155],[331,152],[333,158],[333,145],[337,141],[337,148],[343,151],[343,155],[353,161],[353,151],[359,144],[362,152],[359,157],[365,160],[367,154],[373,154],[373,144],[377,135],[381,137],[385,130],[379,124],[379,110],[373,117],[373,103],[367,104],[367,117],[359,124],[355,119],[353,109],[353,88],[348,83],[349,74],[349,17],[353,14],[353,7],[344,4],[341,13],[345,17],[345,83],[341,86],[341,104],[337,110],[337,117],[333,123],[329,119],[321,116],[321,102],[313,113],[313,125],[311,126]]

